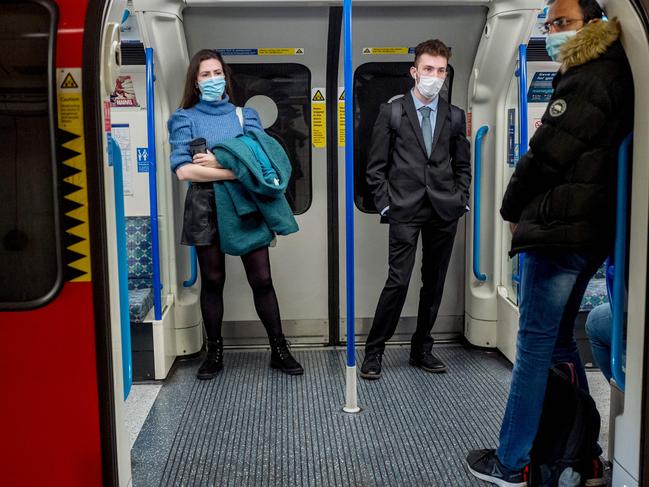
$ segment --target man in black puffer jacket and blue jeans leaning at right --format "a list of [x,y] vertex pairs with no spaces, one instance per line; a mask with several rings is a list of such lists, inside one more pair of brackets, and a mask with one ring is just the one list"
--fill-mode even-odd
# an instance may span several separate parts
[[[501,486],[527,485],[552,364],[586,374],[574,339],[588,281],[612,250],[617,152],[633,125],[633,79],[616,19],[595,0],[550,2],[548,53],[561,68],[530,149],[518,162],[500,210],[513,232],[510,255],[525,252],[511,390],[498,450],[467,456],[473,475]],[[592,445],[580,470],[605,485]]]

